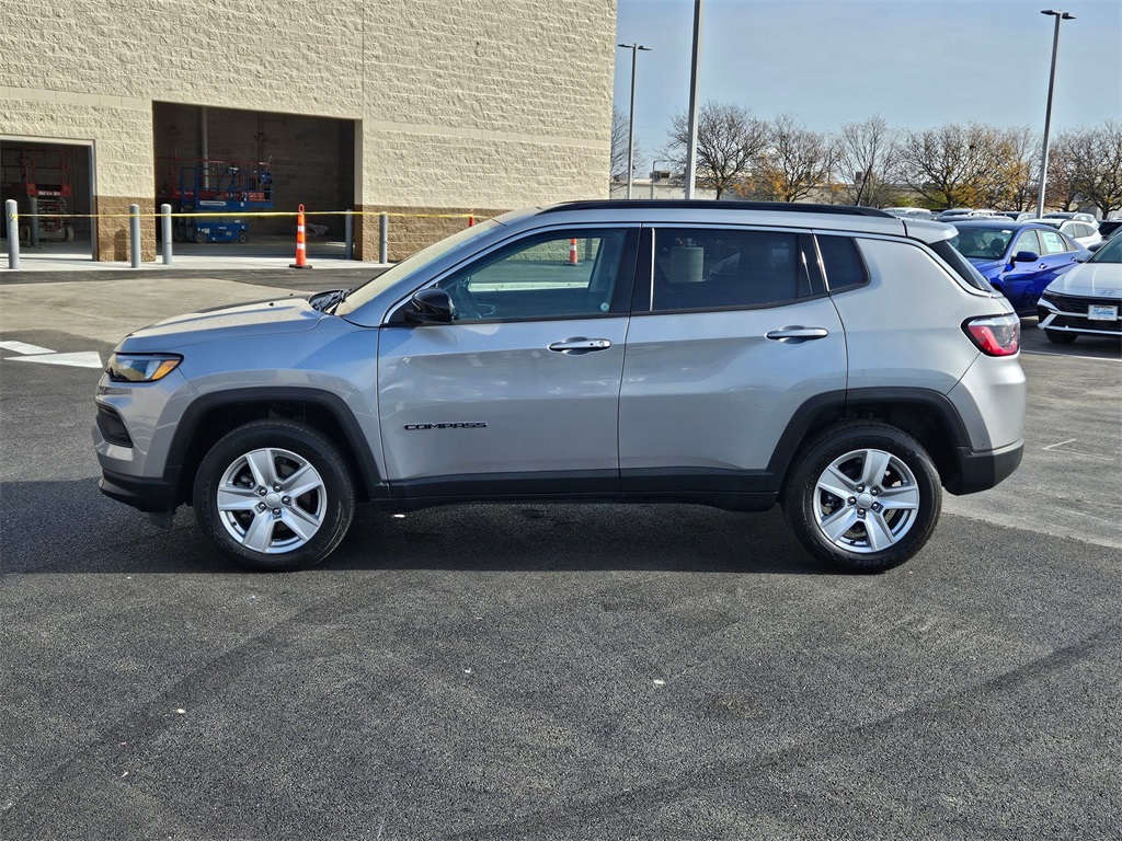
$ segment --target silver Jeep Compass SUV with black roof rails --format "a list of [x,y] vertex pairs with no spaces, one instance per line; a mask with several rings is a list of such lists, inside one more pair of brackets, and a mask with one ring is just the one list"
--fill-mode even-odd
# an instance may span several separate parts
[[1020,322],[880,211],[577,202],[468,228],[350,290],[171,318],[98,388],[101,489],[227,557],[322,561],[357,502],[781,502],[876,572],[941,492],[1021,459]]

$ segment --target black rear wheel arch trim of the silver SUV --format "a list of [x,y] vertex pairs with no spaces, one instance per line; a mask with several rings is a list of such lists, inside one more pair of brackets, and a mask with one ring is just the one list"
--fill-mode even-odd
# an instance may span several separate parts
[[824,429],[846,420],[880,420],[916,438],[939,471],[945,487],[959,483],[960,454],[969,437],[950,399],[923,388],[862,388],[813,397],[791,418],[767,464],[767,472],[787,483],[803,445]]

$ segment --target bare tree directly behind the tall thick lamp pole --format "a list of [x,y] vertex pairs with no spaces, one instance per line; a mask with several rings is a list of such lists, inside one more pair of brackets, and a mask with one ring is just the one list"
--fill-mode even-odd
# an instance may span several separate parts
[[[689,148],[689,117],[674,117],[670,139],[659,151],[680,172],[686,168]],[[707,102],[698,112],[697,184],[714,190],[720,198],[752,167],[767,142],[767,123],[741,105]]]

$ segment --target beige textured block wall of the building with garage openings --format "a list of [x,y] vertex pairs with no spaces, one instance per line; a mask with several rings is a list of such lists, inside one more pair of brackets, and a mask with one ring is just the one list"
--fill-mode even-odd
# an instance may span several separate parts
[[614,45],[614,0],[2,3],[0,136],[92,142],[102,212],[155,211],[154,102],[353,121],[356,207],[603,197]]

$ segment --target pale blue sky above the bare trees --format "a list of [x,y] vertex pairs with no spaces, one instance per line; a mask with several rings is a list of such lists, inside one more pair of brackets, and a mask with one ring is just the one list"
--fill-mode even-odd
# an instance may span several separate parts
[[[1055,18],[1052,132],[1122,119],[1119,0],[703,0],[699,100],[815,131],[881,115],[920,130],[984,122],[1043,130]],[[618,0],[616,41],[637,58],[635,137],[657,158],[689,107],[693,0]],[[632,50],[616,49],[614,102],[631,104]],[[661,168],[661,167],[660,167]]]

